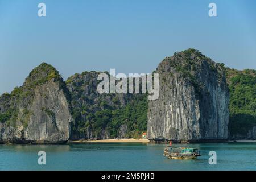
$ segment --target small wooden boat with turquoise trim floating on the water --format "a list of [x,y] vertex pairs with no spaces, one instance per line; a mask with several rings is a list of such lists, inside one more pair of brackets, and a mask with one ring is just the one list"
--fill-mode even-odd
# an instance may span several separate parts
[[196,159],[200,155],[198,148],[166,146],[164,154],[168,159]]

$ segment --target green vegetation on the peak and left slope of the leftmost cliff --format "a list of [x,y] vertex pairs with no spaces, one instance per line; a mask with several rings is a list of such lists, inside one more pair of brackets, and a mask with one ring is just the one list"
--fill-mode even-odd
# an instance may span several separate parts
[[[54,79],[54,81],[64,90],[65,95],[69,98],[69,92],[65,86],[65,82],[60,73],[51,64],[42,63],[34,68],[26,78],[24,84],[15,87],[9,94],[5,93],[1,96],[0,122],[7,122],[8,125],[15,126],[17,120],[27,127],[27,122],[30,117],[27,106],[31,104],[35,94],[35,88],[38,85],[46,84],[46,82]],[[22,117],[18,118],[19,108],[22,110]]]

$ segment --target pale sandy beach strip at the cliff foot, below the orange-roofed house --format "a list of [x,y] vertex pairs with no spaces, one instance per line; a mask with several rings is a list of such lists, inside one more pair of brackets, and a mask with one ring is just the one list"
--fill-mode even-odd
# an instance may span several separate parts
[[148,139],[105,139],[105,140],[78,140],[72,143],[149,143]]

